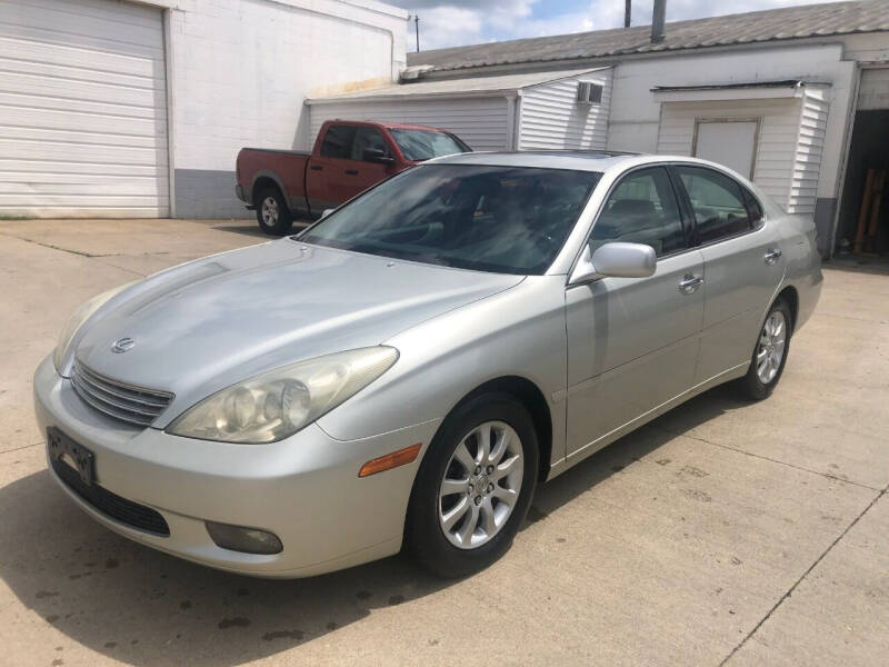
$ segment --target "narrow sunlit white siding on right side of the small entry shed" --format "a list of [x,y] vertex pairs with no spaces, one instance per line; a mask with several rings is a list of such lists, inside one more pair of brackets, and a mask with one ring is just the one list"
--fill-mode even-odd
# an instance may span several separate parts
[[815,213],[829,107],[827,90],[806,89],[799,119],[788,212]]

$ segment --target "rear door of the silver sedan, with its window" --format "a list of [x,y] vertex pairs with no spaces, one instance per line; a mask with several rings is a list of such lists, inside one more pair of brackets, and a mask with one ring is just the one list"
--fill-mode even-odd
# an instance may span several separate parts
[[747,364],[761,320],[785,275],[773,225],[736,179],[699,165],[677,165],[703,257],[703,329],[696,382]]

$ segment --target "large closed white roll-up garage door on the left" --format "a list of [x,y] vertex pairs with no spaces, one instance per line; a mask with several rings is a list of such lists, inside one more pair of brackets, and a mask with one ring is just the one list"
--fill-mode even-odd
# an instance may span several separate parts
[[169,215],[162,17],[0,0],[0,216]]

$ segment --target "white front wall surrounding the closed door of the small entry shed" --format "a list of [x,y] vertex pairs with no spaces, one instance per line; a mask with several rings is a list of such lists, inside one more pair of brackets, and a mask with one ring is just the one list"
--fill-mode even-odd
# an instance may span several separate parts
[[[663,102],[657,150],[661,155],[692,155],[697,119],[759,119],[752,180],[781,207],[788,208],[791,176],[798,159],[797,136],[800,132],[801,106],[799,98]],[[821,137],[823,138],[823,131]]]

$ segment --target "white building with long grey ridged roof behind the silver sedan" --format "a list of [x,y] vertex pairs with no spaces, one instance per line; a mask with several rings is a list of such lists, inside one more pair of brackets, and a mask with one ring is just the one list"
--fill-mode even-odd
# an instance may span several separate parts
[[[868,171],[889,170],[885,0],[421,51],[409,53],[408,64],[400,92],[387,86],[310,99],[311,127],[338,116],[392,117],[433,122],[461,136],[472,131],[466,138],[478,149],[537,148],[543,145],[521,139],[522,118],[532,106],[527,93],[547,83],[507,83],[608,68],[607,94],[596,116],[597,126],[607,127],[607,149],[727,163],[786,210],[813,215],[826,256],[856,236]],[[546,147],[599,148],[586,135],[560,131],[552,123],[589,112],[582,78],[563,79],[566,94],[549,99],[539,115],[550,123],[535,128],[549,130]],[[572,91],[567,90],[569,82]],[[467,87],[463,94],[461,86]],[[481,88],[516,96],[512,127],[519,133],[502,125],[510,122],[508,113],[495,127],[488,107],[479,112],[478,126],[467,120],[468,104],[479,103]],[[441,94],[446,89],[449,94]],[[438,93],[434,102],[431,91]],[[507,103],[499,109],[503,113]],[[889,229],[889,177],[885,188],[878,230]],[[870,242],[875,252],[889,252],[889,233],[878,236],[866,239],[863,247]]]

